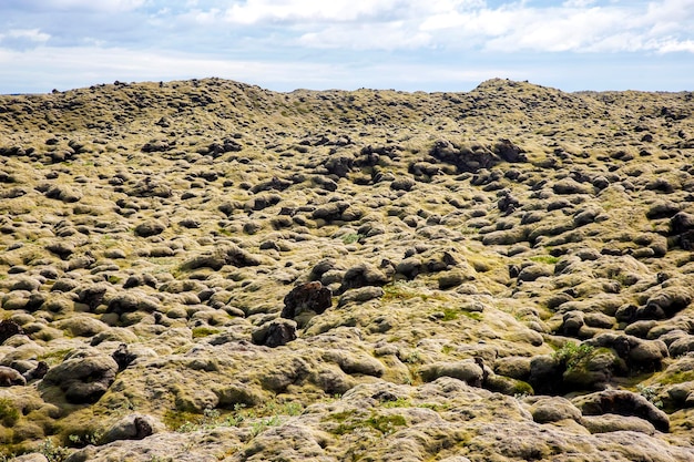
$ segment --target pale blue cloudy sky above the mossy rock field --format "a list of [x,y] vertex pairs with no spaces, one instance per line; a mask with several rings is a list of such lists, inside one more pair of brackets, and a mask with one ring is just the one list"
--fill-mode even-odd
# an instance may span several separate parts
[[694,0],[1,0],[0,94],[216,76],[275,91],[694,90]]

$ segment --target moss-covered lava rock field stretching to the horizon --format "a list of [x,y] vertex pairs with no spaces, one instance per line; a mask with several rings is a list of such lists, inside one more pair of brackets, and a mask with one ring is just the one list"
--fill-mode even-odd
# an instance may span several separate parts
[[694,460],[693,95],[0,96],[0,460]]

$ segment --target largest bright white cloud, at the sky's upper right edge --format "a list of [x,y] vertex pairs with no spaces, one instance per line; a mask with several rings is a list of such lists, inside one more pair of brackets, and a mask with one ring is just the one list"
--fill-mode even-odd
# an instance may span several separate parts
[[[693,35],[694,0],[651,2],[646,8],[595,1],[565,1],[534,8],[525,2],[433,14],[420,29],[432,42],[493,52],[636,52],[688,50],[676,33]],[[657,10],[657,12],[656,12]],[[686,25],[685,25],[686,24]]]

